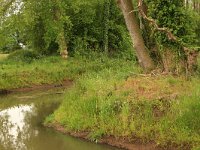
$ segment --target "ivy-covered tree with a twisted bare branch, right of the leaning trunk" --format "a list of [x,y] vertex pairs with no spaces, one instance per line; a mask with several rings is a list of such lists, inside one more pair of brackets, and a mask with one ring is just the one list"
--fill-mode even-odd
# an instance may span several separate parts
[[140,14],[152,28],[162,66],[165,72],[192,73],[197,68],[198,37],[195,30],[197,18],[180,0],[146,0],[148,16],[142,12],[143,0],[139,0]]

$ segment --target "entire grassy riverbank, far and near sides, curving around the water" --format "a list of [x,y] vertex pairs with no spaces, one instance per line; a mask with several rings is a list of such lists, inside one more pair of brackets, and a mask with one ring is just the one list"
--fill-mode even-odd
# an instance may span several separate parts
[[46,118],[46,126],[87,133],[90,141],[127,149],[126,145],[149,143],[162,149],[200,147],[198,76],[186,81],[185,77],[144,75],[133,61],[104,56],[0,63],[2,90],[74,80],[60,107]]

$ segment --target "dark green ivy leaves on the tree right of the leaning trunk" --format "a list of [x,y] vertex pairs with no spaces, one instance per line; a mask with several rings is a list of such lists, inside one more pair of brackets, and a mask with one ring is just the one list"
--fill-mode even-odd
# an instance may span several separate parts
[[[164,47],[176,47],[179,44],[192,47],[197,44],[198,38],[195,32],[197,24],[194,17],[195,12],[189,11],[184,7],[183,1],[180,0],[155,0],[146,1],[148,5],[148,16],[156,20],[159,27],[167,27],[179,39],[178,43],[170,41],[163,32],[156,31],[155,37],[158,44]],[[174,49],[174,48],[172,48]]]

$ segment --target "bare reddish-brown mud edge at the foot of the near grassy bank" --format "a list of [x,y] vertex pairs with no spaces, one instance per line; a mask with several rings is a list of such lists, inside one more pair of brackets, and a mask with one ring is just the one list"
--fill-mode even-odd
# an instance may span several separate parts
[[[67,135],[71,135],[76,138],[81,138],[87,141],[91,140],[89,139],[89,132],[70,132],[66,131],[64,127],[56,124],[56,125],[46,125],[49,128],[54,128],[55,130],[62,132]],[[130,139],[126,137],[119,137],[116,138],[114,136],[107,136],[103,137],[102,139],[98,140],[99,144],[107,144],[110,146],[114,146],[117,148],[121,149],[126,149],[126,150],[161,150],[161,148],[158,148],[156,144],[154,143],[149,143],[149,144],[141,144],[139,142],[131,142]]]

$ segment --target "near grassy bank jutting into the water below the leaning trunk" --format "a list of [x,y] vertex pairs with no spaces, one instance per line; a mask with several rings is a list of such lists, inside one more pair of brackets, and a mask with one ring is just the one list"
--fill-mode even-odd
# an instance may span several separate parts
[[102,68],[79,76],[45,124],[88,133],[92,141],[112,136],[169,149],[199,148],[200,79],[139,75],[122,60],[94,64]]

